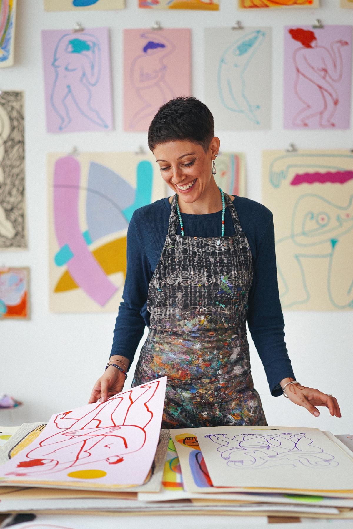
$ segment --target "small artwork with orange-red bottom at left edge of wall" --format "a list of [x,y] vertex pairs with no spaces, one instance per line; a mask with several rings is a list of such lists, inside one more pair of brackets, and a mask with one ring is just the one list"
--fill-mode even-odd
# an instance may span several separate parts
[[0,320],[30,317],[29,277],[29,268],[0,269]]

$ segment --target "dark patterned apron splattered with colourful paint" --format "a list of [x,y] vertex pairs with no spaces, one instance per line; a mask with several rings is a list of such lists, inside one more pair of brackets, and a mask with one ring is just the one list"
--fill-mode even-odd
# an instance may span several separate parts
[[235,235],[196,238],[176,233],[174,196],[148,288],[150,327],[132,386],[168,376],[163,428],[267,424],[245,327],[252,254],[235,206],[225,199]]

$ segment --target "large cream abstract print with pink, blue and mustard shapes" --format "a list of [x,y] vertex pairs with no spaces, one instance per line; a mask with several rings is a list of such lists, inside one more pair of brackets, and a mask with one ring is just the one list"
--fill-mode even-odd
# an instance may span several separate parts
[[52,312],[117,311],[128,224],[135,209],[165,196],[152,162],[133,152],[50,155]]

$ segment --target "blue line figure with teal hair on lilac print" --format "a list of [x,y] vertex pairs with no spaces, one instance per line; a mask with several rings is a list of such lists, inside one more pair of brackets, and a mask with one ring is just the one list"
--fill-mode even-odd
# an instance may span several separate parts
[[67,33],[55,47],[52,67],[55,79],[50,103],[58,115],[58,130],[71,123],[68,97],[87,120],[107,129],[104,118],[91,105],[92,88],[97,86],[101,73],[100,42],[90,33]]

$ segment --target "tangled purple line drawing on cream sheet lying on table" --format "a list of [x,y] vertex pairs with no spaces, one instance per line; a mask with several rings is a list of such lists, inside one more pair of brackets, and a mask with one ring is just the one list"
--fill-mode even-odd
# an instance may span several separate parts
[[337,467],[333,455],[315,446],[305,433],[244,433],[206,435],[218,445],[217,452],[228,467],[267,469],[304,465],[312,469]]

